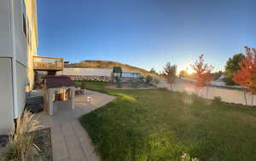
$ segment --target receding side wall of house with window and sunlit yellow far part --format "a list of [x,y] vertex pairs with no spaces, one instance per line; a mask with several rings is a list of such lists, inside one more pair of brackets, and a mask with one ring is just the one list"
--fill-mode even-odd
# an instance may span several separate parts
[[10,0],[13,52],[15,118],[20,117],[26,101],[26,86],[34,81],[33,55],[37,55],[38,26],[36,0]]

